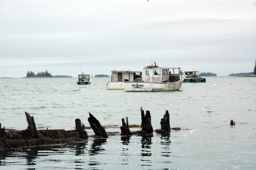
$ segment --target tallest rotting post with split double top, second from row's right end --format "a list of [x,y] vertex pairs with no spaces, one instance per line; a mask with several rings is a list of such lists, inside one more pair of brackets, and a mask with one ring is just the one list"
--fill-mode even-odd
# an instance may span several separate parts
[[147,110],[146,115],[144,115],[144,110],[142,110],[142,107],[140,108],[141,112],[141,129],[142,131],[145,131],[146,134],[153,134],[153,127],[151,125],[151,116],[150,112]]

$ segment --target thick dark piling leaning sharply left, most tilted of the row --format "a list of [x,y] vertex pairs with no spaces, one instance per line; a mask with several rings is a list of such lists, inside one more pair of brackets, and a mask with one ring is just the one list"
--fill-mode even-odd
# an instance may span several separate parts
[[88,118],[88,122],[92,127],[95,137],[108,138],[108,134],[106,130],[101,126],[99,120],[97,120],[90,112],[89,112],[89,116],[90,117]]

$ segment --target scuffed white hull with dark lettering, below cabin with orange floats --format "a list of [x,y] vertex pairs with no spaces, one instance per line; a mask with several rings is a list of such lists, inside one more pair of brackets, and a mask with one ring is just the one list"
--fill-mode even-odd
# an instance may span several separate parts
[[174,91],[181,88],[183,80],[176,82],[124,82],[125,91]]

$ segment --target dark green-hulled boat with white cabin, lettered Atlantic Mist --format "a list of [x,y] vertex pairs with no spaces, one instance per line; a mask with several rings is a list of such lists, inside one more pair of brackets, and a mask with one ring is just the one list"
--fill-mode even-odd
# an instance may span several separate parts
[[184,83],[205,83],[206,79],[198,75],[199,71],[183,70]]

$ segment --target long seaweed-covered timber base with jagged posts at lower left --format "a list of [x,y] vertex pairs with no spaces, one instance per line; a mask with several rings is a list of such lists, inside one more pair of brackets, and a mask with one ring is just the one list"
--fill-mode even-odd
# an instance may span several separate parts
[[[83,142],[88,136],[86,131],[81,130],[81,121],[76,130],[66,131],[64,129],[36,130],[34,118],[25,112],[28,128],[26,130],[15,130],[1,128],[0,123],[0,150],[28,147],[54,145],[73,142]],[[79,121],[78,121],[79,124]],[[81,127],[81,128],[80,128]],[[82,133],[82,135],[81,135]]]

